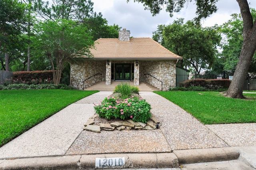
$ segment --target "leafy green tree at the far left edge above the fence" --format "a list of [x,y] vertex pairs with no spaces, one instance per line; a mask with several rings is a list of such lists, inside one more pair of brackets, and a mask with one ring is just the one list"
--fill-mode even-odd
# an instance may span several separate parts
[[16,35],[26,31],[26,4],[18,0],[1,0],[0,16],[0,53],[4,53],[5,70],[9,71],[10,43],[16,41]]

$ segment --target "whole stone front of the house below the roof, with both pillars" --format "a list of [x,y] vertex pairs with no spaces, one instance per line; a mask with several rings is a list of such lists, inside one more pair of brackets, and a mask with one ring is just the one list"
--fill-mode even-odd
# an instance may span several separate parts
[[[112,64],[131,63],[134,64],[134,85],[139,85],[140,82],[148,82],[163,91],[168,91],[176,86],[176,61],[137,62],[138,65],[136,65],[136,61],[84,61],[71,64],[70,85],[79,90],[99,81],[106,81],[106,85],[110,85],[112,81],[111,73],[115,72],[115,70],[111,70]],[[93,76],[97,73],[101,75]],[[91,76],[93,77],[84,83],[84,80]]]

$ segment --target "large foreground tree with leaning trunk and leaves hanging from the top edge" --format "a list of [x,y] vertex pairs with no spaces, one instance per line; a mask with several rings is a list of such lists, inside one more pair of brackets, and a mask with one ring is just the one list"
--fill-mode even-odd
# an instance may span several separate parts
[[[134,1],[142,2],[145,9],[150,10],[153,15],[158,14],[162,10],[162,6],[165,6],[166,11],[170,13],[170,16],[172,16],[173,12],[179,12],[184,7],[184,4],[191,2],[191,0]],[[196,0],[196,20],[199,21],[202,18],[207,18],[214,12],[217,12],[216,2],[218,2],[218,0]],[[252,18],[247,0],[236,0],[236,2],[238,2],[243,19],[243,44],[233,80],[224,95],[230,98],[244,98],[242,94],[244,80],[256,50],[256,22]]]

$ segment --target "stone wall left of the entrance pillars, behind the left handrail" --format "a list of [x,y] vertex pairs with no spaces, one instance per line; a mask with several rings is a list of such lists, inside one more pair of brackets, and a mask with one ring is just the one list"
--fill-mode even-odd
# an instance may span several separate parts
[[[83,84],[86,88],[96,82],[104,81],[106,78],[106,61],[81,61],[72,63],[70,67],[70,86],[79,90],[83,90]],[[102,75],[94,76],[83,82],[86,78],[97,73]]]

